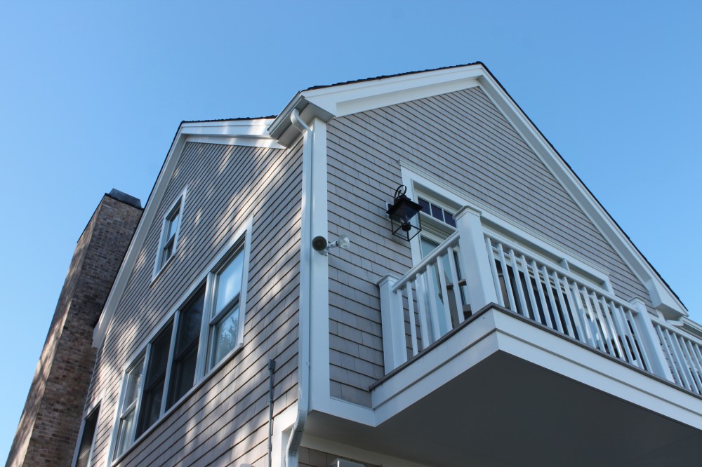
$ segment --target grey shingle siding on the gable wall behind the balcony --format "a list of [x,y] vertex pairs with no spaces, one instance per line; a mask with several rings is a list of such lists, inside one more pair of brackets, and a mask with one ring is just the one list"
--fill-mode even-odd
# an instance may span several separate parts
[[352,237],[330,255],[331,394],[370,404],[383,375],[377,281],[411,267],[409,244],[385,215],[399,160],[444,180],[609,271],[623,299],[648,297],[621,257],[480,88],[352,114],[329,122],[329,234]]

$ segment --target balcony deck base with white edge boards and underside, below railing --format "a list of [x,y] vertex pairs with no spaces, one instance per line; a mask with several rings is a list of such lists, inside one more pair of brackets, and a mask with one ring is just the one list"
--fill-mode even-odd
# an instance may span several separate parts
[[376,426],[310,434],[431,466],[694,465],[702,398],[491,305],[372,388]]

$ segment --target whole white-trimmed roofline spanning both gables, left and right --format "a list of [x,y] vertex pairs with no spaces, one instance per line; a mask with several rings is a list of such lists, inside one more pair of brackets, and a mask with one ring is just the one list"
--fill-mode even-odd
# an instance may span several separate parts
[[105,337],[119,297],[124,292],[129,273],[145,242],[146,232],[154,221],[166,185],[180,158],[185,142],[218,142],[220,144],[286,147],[299,137],[291,128],[293,109],[305,121],[314,118],[329,121],[334,117],[377,109],[387,105],[430,97],[442,93],[480,86],[531,150],[541,158],[559,183],[569,192],[585,215],[597,226],[613,248],[644,283],[651,302],[667,317],[687,316],[687,309],[642,255],[621,226],[595,198],[570,165],[556,151],[529,116],[524,113],[502,84],[482,62],[454,65],[424,71],[346,81],[326,86],[313,86],[298,92],[278,116],[227,120],[183,121],[173,138],[164,165],[144,208],[133,241],[114,280],[98,325],[93,333],[93,345],[99,346]]

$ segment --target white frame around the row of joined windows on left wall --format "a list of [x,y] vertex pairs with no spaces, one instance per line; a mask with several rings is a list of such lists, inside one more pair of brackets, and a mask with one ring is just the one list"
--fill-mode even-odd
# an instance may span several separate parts
[[[208,266],[205,268],[205,272],[202,273],[197,280],[194,281],[193,285],[191,285],[188,290],[183,294],[183,297],[178,300],[178,304],[173,307],[171,311],[169,311],[166,316],[159,322],[159,325],[154,327],[154,330],[149,334],[148,339],[145,340],[145,344],[140,346],[138,348],[138,351],[135,351],[133,353],[134,357],[129,359],[129,364],[126,365],[124,371],[122,372],[122,385],[121,385],[121,390],[120,390],[120,395],[119,395],[119,404],[117,407],[117,413],[115,416],[114,420],[114,426],[112,428],[112,440],[110,443],[110,465],[114,465],[115,463],[118,463],[119,460],[124,457],[124,455],[131,450],[131,448],[138,443],[138,441],[145,436],[148,435],[148,433],[152,432],[159,424],[161,424],[161,421],[166,419],[168,417],[168,414],[171,414],[173,410],[176,410],[177,407],[179,407],[184,400],[186,400],[194,391],[197,391],[197,389],[201,386],[201,384],[204,383],[209,377],[211,377],[212,374],[215,374],[220,370],[220,368],[225,365],[233,356],[236,354],[238,351],[241,350],[244,346],[244,321],[246,317],[246,292],[248,289],[248,283],[249,283],[249,259],[251,255],[251,225],[253,224],[253,219],[249,218],[243,226],[237,232],[232,235],[232,238],[229,242],[227,242],[226,245],[223,246],[223,248],[220,250],[220,252],[216,255],[216,257],[208,264]],[[214,306],[213,305],[213,289],[215,285],[215,279],[218,273],[223,270],[223,268],[227,265],[227,262],[229,259],[233,259],[235,255],[237,255],[237,252],[243,251],[244,253],[244,264],[242,266],[242,273],[241,273],[241,292],[239,293],[239,324],[237,328],[237,344],[232,348],[231,351],[229,351],[223,358],[216,363],[215,365],[212,365],[211,368],[208,369],[209,365],[206,365],[207,360],[209,359],[209,352],[210,352],[210,341],[211,341],[211,330],[213,329],[213,326],[210,325],[211,320],[211,309]],[[199,290],[201,290],[201,287],[205,287],[205,299],[204,299],[204,306],[203,306],[203,313],[202,313],[202,325],[201,325],[201,330],[200,330],[200,337],[199,337],[199,343],[198,343],[198,350],[197,350],[197,360],[196,360],[196,366],[195,366],[195,381],[194,384],[192,385],[192,388],[188,390],[180,399],[176,400],[173,402],[173,405],[171,407],[168,407],[166,409],[167,401],[168,401],[168,393],[170,392],[170,384],[171,384],[171,368],[173,365],[173,353],[175,351],[175,342],[176,342],[176,337],[178,334],[178,320],[180,318],[180,311],[184,309],[187,304],[190,303],[190,299],[194,297]],[[225,309],[229,309],[225,307]],[[215,317],[215,320],[212,321],[213,323],[216,323],[216,319],[218,319],[223,313],[226,313],[226,311],[223,311],[222,313],[218,313],[218,316]],[[138,438],[135,438],[135,433],[137,431],[137,426],[139,423],[140,419],[140,411],[142,410],[142,404],[143,404],[143,392],[144,392],[144,386],[146,383],[146,377],[147,377],[147,372],[149,370],[148,368],[148,363],[149,363],[149,357],[150,357],[150,351],[152,347],[152,342],[154,339],[157,339],[161,332],[164,330],[166,326],[169,324],[173,324],[173,329],[171,330],[171,344],[170,348],[168,351],[168,363],[166,367],[166,380],[164,381],[164,395],[161,400],[161,410],[159,412],[159,419],[155,421],[151,426],[148,428],[145,428],[143,433]],[[128,445],[124,448],[124,452],[121,452],[117,454],[117,435],[119,431],[119,424],[122,417],[122,412],[124,412],[124,398],[126,397],[126,374],[128,371],[132,370],[133,367],[135,367],[135,363],[138,363],[138,361],[143,358],[143,369],[142,369],[142,384],[139,389],[139,393],[137,395],[137,398],[135,400],[135,419],[134,419],[134,424],[133,428],[131,430],[131,441],[128,442]]]

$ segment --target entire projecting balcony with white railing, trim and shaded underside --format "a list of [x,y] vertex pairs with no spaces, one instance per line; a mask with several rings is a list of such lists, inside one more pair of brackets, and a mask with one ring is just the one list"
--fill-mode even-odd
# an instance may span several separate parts
[[430,465],[677,465],[702,455],[700,339],[642,300],[616,297],[587,264],[469,208],[456,221],[402,278],[378,284],[377,426],[347,428],[350,440],[370,435],[376,449]]

